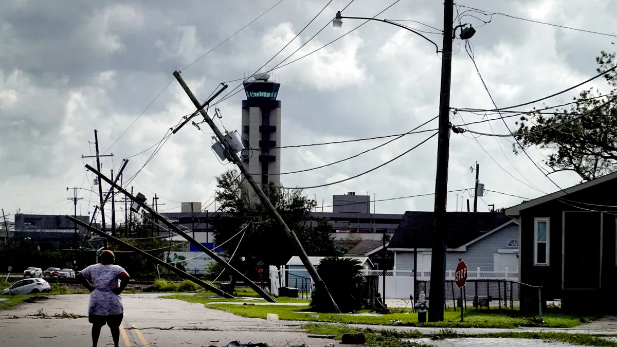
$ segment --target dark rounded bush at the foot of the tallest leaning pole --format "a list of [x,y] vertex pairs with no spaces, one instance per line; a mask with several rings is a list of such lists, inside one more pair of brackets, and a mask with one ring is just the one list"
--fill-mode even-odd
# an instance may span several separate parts
[[[341,312],[362,308],[365,278],[360,262],[351,258],[326,257],[317,265],[317,273]],[[334,312],[330,298],[318,287],[313,291],[310,307],[317,312]]]

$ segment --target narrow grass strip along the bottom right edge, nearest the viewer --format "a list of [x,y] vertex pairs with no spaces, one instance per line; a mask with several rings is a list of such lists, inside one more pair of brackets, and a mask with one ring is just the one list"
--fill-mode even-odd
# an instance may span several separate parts
[[617,343],[605,340],[601,337],[614,337],[615,335],[588,335],[552,332],[504,332],[488,334],[459,334],[451,329],[442,329],[437,333],[423,334],[417,330],[397,332],[394,330],[360,329],[347,325],[332,324],[305,324],[308,333],[319,335],[334,335],[336,340],[341,340],[346,333],[363,333],[366,337],[366,345],[371,347],[397,347],[410,345],[408,339],[429,338],[431,340],[444,340],[445,338],[526,338],[543,341],[561,341],[573,345],[617,347]]

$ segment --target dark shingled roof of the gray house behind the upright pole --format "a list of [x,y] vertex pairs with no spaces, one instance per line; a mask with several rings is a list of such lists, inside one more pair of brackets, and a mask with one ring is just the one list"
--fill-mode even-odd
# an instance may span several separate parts
[[[468,246],[496,228],[516,222],[497,212],[447,212],[445,242],[448,248]],[[414,245],[414,233],[417,245]],[[433,212],[407,211],[396,228],[389,248],[432,248]]]

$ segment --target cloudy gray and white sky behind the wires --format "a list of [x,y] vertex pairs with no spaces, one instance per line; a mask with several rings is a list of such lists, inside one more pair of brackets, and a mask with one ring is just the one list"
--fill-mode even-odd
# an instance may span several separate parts
[[[81,156],[94,153],[94,129],[99,132],[101,153],[114,154],[102,158],[102,170],[117,170],[122,159],[130,157],[125,177],[134,175],[154,148],[135,154],[162,140],[183,115],[194,111],[186,94],[172,80],[174,70],[182,71],[198,98],[207,99],[221,82],[256,72],[328,3],[283,0],[204,56],[278,1],[0,1],[0,207],[7,214],[17,209],[22,213],[67,214],[72,211],[72,202],[67,200],[72,192],[66,188],[80,187],[83,199],[78,202],[78,213],[93,212],[97,195],[89,190],[97,187],[93,186],[93,174],[86,173],[83,166],[93,161]],[[344,15],[373,17],[392,2],[355,0]],[[263,70],[272,69],[307,43],[328,24],[336,10],[348,3],[332,1]],[[615,33],[614,1],[465,0],[458,4]],[[415,20],[424,25],[400,23],[435,32],[430,27],[442,27],[442,12],[440,1],[400,0],[378,18]],[[462,22],[473,24],[477,30],[470,42],[478,68],[499,107],[531,101],[592,77],[596,74],[594,57],[602,49],[613,49],[611,41],[615,38],[611,36],[502,15],[494,15],[490,23],[481,27],[482,20],[489,22],[491,17],[468,14],[475,17],[466,15]],[[320,48],[361,23],[344,20],[342,28],[325,28],[286,62]],[[425,35],[441,47],[441,35]],[[464,41],[454,42],[454,52],[451,106],[494,108],[465,52]],[[336,43],[275,70],[281,82],[281,145],[408,132],[437,115],[440,66],[440,55],[420,36],[393,25],[367,23]],[[228,90],[238,83],[228,82]],[[601,80],[587,86],[607,88]],[[578,91],[545,103],[568,102]],[[244,93],[238,93],[217,105],[222,115],[217,121],[220,127],[241,130],[243,98]],[[482,115],[452,117],[455,124],[478,120]],[[508,122],[513,127],[514,120]],[[436,127],[435,120],[421,130]],[[471,128],[486,133],[508,132],[501,120]],[[157,193],[159,203],[165,204],[159,209],[170,212],[179,211],[181,201],[201,201],[204,205],[212,202],[215,176],[231,164],[217,161],[210,149],[212,132],[205,124],[201,130],[189,125],[170,136],[130,186],[149,199]],[[284,175],[281,181],[285,186],[300,187],[336,182],[383,164],[432,134],[408,135],[341,164]],[[481,182],[488,190],[525,198],[558,190],[527,157],[512,153],[511,139],[482,136],[476,141],[465,135],[451,136],[449,190],[474,185],[470,167],[476,161],[481,165]],[[328,164],[387,140],[281,149],[281,170],[291,172]],[[347,191],[368,192],[371,198],[376,194],[376,212],[432,211],[433,196],[379,200],[432,193],[436,148],[434,137],[370,174],[304,193],[310,198],[316,196],[319,204],[324,201],[324,211],[330,210],[327,206],[333,194]],[[542,160],[543,153],[532,149],[529,154],[536,161]],[[555,174],[553,179],[561,186],[579,181],[568,173]],[[449,194],[449,211],[457,209],[456,194]],[[460,194],[465,198],[469,194],[458,194],[460,209]],[[494,192],[483,199],[495,207],[521,202],[521,198]],[[488,210],[484,201],[479,201],[479,211]],[[120,211],[120,207],[117,209]]]

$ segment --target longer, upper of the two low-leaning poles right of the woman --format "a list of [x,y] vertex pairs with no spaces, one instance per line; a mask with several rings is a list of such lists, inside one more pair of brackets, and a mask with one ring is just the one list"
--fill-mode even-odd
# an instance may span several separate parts
[[268,293],[263,291],[263,289],[260,286],[256,285],[253,281],[249,280],[249,278],[247,278],[244,274],[242,274],[242,272],[239,272],[238,270],[236,270],[235,267],[231,266],[230,264],[228,264],[228,262],[224,261],[221,257],[218,256],[218,254],[214,253],[213,251],[210,251],[210,249],[208,249],[206,246],[197,242],[197,240],[189,236],[187,233],[183,232],[180,228],[178,228],[178,225],[175,225],[172,222],[170,222],[167,218],[159,214],[159,212],[154,211],[152,207],[148,206],[143,201],[136,199],[135,196],[133,196],[133,194],[129,193],[124,188],[117,185],[117,183],[114,183],[112,180],[109,179],[109,177],[106,177],[105,175],[101,174],[101,172],[94,169],[94,167],[91,167],[90,165],[86,164],[86,169],[93,172],[93,174],[97,175],[101,180],[104,180],[105,182],[114,186],[120,193],[125,194],[127,198],[130,198],[134,203],[139,204],[139,206],[143,207],[143,209],[150,212],[150,214],[153,217],[155,217],[155,219],[160,220],[161,222],[163,222],[163,224],[165,224],[165,226],[172,229],[175,233],[182,236],[184,239],[189,241],[191,244],[199,248],[200,251],[204,252],[205,254],[208,254],[210,257],[212,257],[212,259],[214,259],[214,261],[218,262],[218,264],[221,264],[223,267],[225,267],[225,269],[228,269],[232,271],[234,274],[237,274],[240,278],[242,278],[242,281],[244,281],[244,283],[247,283],[247,285],[251,287],[252,290],[254,290],[259,296],[264,298],[266,301],[268,301],[269,303],[276,303],[276,300],[273,299],[270,295],[268,295]]

